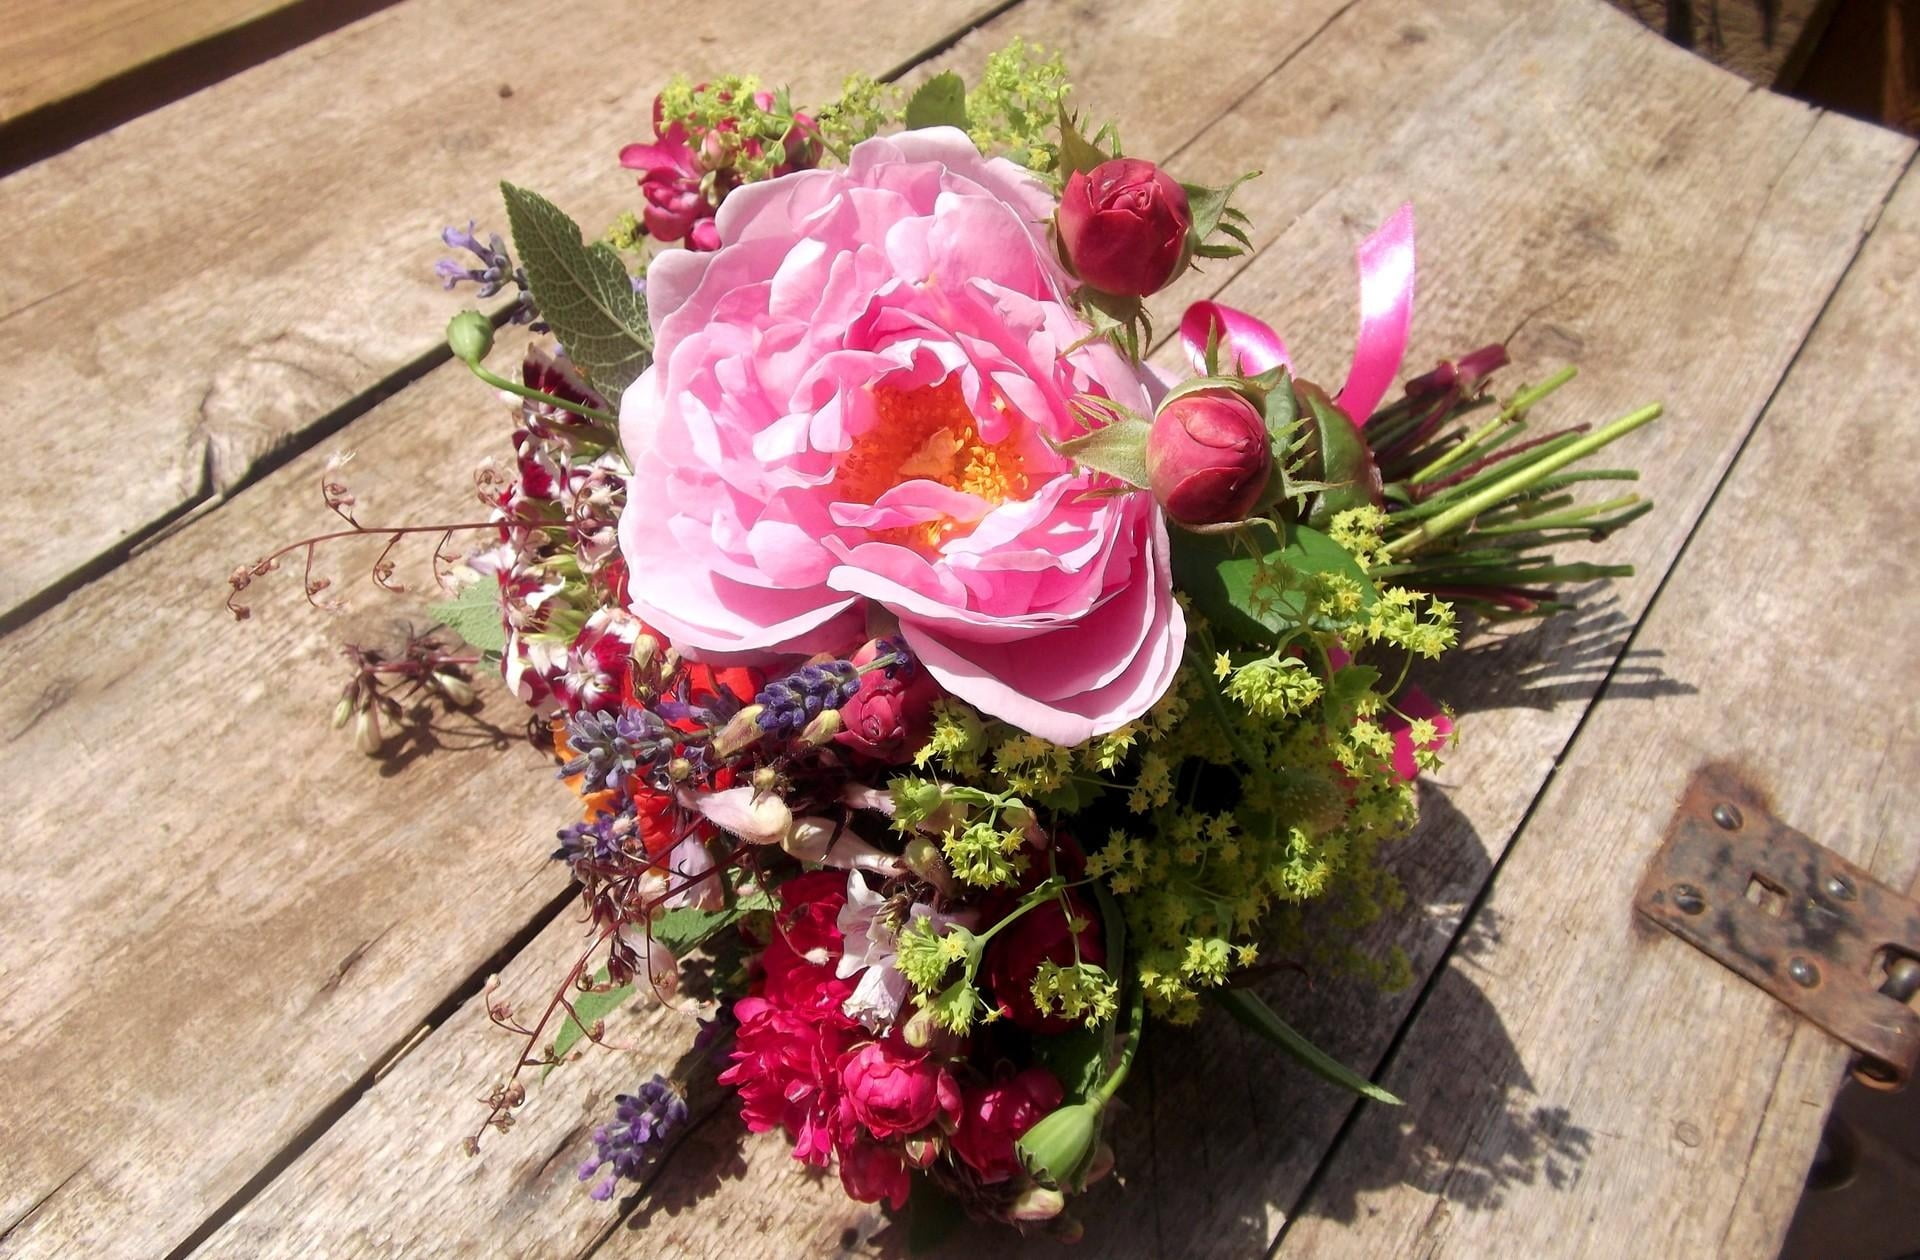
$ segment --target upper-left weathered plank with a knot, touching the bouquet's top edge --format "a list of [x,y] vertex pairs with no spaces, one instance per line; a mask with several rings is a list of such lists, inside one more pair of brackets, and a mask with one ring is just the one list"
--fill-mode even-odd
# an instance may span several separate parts
[[[806,48],[883,73],[991,8],[912,0],[876,23],[826,6]],[[637,202],[616,154],[668,75],[793,56],[791,29],[745,0],[672,19],[566,0],[538,21],[591,31],[605,69],[582,73],[572,38],[520,38],[492,65],[497,6],[411,0],[0,181],[10,428],[33,434],[33,467],[115,486],[73,511],[63,478],[36,476],[0,503],[0,618],[444,357],[436,232],[501,227],[499,179],[597,230]]]

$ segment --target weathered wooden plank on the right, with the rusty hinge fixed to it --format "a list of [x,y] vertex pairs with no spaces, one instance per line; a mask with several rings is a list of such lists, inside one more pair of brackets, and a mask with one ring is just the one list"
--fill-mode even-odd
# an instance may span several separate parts
[[[1453,960],[1394,1056],[1405,1116],[1367,1108],[1317,1195],[1367,1229],[1306,1220],[1283,1256],[1780,1247],[1845,1047],[1630,905],[1709,759],[1743,764],[1780,818],[1893,887],[1920,870],[1920,563],[1899,545],[1920,534],[1899,457],[1920,388],[1916,284],[1908,175],[1640,630],[1636,647],[1690,690],[1599,697],[1476,916],[1500,924],[1498,945]],[[1809,486],[1832,492],[1782,511]],[[1509,1070],[1457,1083],[1496,1041],[1511,1041]],[[1513,1181],[1486,1210],[1463,1202],[1461,1170],[1538,1110],[1586,1133],[1584,1166],[1561,1185]],[[1392,1183],[1411,1135],[1434,1147],[1427,1187]]]

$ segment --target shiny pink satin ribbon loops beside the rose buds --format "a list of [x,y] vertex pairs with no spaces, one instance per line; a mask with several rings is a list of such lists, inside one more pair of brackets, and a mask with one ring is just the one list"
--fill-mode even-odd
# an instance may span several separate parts
[[[1334,401],[1365,424],[1400,375],[1413,327],[1413,206],[1402,206],[1354,252],[1359,269],[1359,334],[1354,363]],[[1261,319],[1221,302],[1194,302],[1181,317],[1181,344],[1194,371],[1206,371],[1206,344],[1219,328],[1219,344],[1244,375],[1286,365],[1286,342]]]

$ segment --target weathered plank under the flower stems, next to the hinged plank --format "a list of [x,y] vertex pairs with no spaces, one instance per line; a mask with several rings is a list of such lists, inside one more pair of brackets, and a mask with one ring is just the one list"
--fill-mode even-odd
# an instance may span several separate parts
[[[1021,19],[1041,12],[1029,6]],[[1221,52],[1227,44],[1204,46],[1215,61],[1231,56]],[[1576,73],[1567,73],[1565,48],[1582,48]],[[1640,85],[1634,98],[1613,88],[1620,81]],[[1354,83],[1369,92],[1357,94]],[[1747,163],[1730,169],[1690,146],[1690,131],[1703,123],[1738,142]],[[1895,138],[1751,98],[1597,6],[1534,12],[1519,0],[1417,10],[1363,0],[1187,148],[1183,175],[1246,165],[1275,173],[1250,196],[1273,244],[1223,298],[1284,313],[1300,359],[1334,365],[1317,375],[1334,376],[1344,361],[1354,236],[1400,196],[1413,196],[1427,257],[1417,355],[1524,325],[1513,342],[1521,376],[1569,355],[1584,367],[1565,403],[1569,419],[1596,419],[1603,403],[1653,394],[1674,403],[1674,421],[1626,453],[1647,469],[1661,513],[1609,549],[1642,563],[1644,576],[1580,618],[1492,638],[1450,672],[1448,693],[1484,711],[1471,716],[1467,743],[1444,776],[1450,799],[1430,797],[1428,824],[1405,851],[1404,876],[1428,914],[1379,935],[1382,945],[1404,945],[1419,974],[1453,937],[1461,909],[1519,826],[1905,154]],[[1300,221],[1283,230],[1294,215]],[[1713,279],[1711,303],[1701,277]],[[1766,319],[1740,319],[1753,309]],[[1636,668],[1630,661],[1622,676]],[[1640,684],[1678,686],[1661,676]],[[1298,1024],[1361,1066],[1380,1058],[1411,1003],[1409,993],[1382,997],[1338,981],[1323,981],[1317,995],[1279,997]],[[420,1054],[467,1054],[455,1043],[468,1035],[449,1026]],[[684,1035],[657,1045],[632,1062],[630,1078],[670,1062]],[[1346,1099],[1227,1028],[1156,1030],[1148,1056],[1154,1089],[1135,1091],[1135,1110],[1121,1122],[1129,1185],[1089,1208],[1089,1245],[1098,1254],[1263,1250],[1332,1143]],[[355,1108],[248,1204],[213,1250],[246,1252],[276,1222],[336,1220],[371,1197],[361,1187],[372,1179],[419,1175],[442,1185],[430,1160],[407,1152],[415,1126],[442,1114],[445,1081],[434,1078],[409,1078],[419,1089],[413,1101]],[[555,1108],[576,1106],[572,1095],[555,1099]],[[536,1091],[528,1116],[540,1106],[547,1099]],[[778,1141],[755,1139],[745,1162],[735,1160],[728,1154],[735,1131],[728,1116],[703,1129],[664,1170],[655,1206],[628,1220],[643,1227],[614,1231],[597,1254],[737,1254],[743,1235],[791,1254],[831,1252],[849,1239],[897,1245],[891,1235],[876,1239],[877,1212],[808,1177]],[[1542,1175],[1549,1151],[1567,1158],[1559,1147],[1538,1147],[1515,1168]],[[449,1191],[444,1202],[495,1193],[492,1177]],[[486,1202],[476,1210],[490,1210]],[[515,1235],[513,1245],[553,1231],[564,1239],[555,1250],[570,1247],[574,1210],[557,1206],[551,1216],[551,1225],[528,1222],[534,1233]],[[323,1225],[307,1227],[313,1233],[300,1237],[326,1237]]]

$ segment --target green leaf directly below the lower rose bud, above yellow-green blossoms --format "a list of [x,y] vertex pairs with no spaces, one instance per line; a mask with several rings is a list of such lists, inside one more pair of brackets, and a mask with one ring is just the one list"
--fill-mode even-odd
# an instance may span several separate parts
[[[1254,578],[1261,567],[1273,569],[1279,580],[1256,597]],[[1225,534],[1173,530],[1173,584],[1192,597],[1227,643],[1290,638],[1306,620],[1308,582],[1317,572],[1354,578],[1365,603],[1379,599],[1373,580],[1346,547],[1315,528],[1288,526],[1286,545],[1267,551],[1263,559],[1244,547],[1235,549]]]

